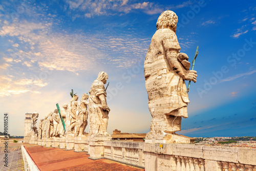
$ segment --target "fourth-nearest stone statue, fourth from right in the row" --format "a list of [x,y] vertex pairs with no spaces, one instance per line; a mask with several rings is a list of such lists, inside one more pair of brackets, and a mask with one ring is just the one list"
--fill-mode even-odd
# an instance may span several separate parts
[[78,103],[78,96],[73,95],[72,99],[69,102],[67,113],[68,113],[68,124],[67,124],[67,131],[70,133],[74,133],[75,125],[76,125],[76,109],[77,109],[77,103]]

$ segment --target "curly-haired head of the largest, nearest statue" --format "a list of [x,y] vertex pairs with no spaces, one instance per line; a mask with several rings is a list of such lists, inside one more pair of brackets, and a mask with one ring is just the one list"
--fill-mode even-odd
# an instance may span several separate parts
[[157,20],[157,30],[169,28],[176,33],[178,16],[175,12],[166,10],[160,14]]

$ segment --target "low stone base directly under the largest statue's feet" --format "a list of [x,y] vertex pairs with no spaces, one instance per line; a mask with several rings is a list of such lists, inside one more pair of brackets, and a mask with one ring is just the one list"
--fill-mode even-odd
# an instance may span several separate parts
[[145,143],[194,143],[195,139],[177,134],[166,134],[163,139],[145,139]]

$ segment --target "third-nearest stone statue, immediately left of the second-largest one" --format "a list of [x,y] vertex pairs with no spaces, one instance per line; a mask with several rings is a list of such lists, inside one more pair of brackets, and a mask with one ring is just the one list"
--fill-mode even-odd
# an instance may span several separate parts
[[87,105],[89,104],[88,94],[84,93],[81,97],[81,100],[77,104],[77,110],[76,110],[76,126],[75,126],[75,136],[84,136],[83,131],[86,129],[86,126],[88,124],[87,118],[88,118],[88,111],[87,111]]

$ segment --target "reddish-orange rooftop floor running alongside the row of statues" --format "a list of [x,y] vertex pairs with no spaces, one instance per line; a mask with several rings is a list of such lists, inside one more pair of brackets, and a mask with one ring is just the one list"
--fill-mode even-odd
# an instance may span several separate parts
[[91,160],[85,152],[76,153],[59,148],[24,144],[29,155],[41,170],[144,170],[107,159]]

